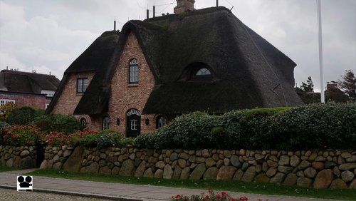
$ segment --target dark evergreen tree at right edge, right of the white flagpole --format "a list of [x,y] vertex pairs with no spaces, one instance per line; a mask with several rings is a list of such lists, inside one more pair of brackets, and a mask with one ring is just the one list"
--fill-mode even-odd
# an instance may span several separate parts
[[350,100],[356,101],[356,78],[352,70],[345,71],[345,75],[341,76],[342,81],[339,80],[339,86],[345,92]]

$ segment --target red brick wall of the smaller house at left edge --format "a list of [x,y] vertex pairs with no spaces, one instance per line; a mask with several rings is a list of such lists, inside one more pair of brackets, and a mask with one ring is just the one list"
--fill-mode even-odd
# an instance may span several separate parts
[[46,96],[42,94],[6,92],[0,94],[0,99],[15,100],[15,104],[18,106],[46,109]]

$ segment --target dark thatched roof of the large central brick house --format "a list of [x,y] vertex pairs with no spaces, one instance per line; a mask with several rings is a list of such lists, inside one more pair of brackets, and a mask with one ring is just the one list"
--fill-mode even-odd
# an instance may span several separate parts
[[[293,91],[295,63],[229,9],[214,7],[128,21],[108,59],[110,65],[95,73],[76,114],[103,113],[108,106],[110,80],[130,32],[135,33],[155,77],[142,113],[224,113],[303,104]],[[209,66],[214,78],[192,81],[192,63]]]

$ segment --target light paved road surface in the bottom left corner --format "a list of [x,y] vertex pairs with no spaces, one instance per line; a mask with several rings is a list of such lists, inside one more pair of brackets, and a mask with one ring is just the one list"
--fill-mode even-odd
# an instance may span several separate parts
[[79,197],[79,196],[73,196],[73,195],[58,195],[58,194],[53,194],[53,193],[45,193],[45,192],[17,192],[16,190],[12,189],[5,189],[5,188],[0,188],[0,200],[4,201],[17,201],[17,200],[27,200],[27,201],[32,201],[32,200],[46,200],[46,201],[59,201],[59,200],[75,200],[75,201],[81,201],[81,200],[88,200],[88,201],[100,201],[103,199],[97,199],[97,198],[92,198],[92,197]]

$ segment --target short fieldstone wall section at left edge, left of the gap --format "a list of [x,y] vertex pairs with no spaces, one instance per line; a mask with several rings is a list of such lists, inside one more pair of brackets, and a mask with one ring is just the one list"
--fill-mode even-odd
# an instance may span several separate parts
[[35,168],[37,160],[36,146],[0,145],[0,165],[13,168]]

